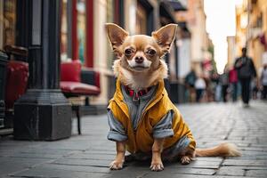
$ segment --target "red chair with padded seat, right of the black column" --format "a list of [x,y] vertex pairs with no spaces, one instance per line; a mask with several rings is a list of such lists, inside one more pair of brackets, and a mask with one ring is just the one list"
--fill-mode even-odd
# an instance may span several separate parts
[[[101,93],[100,82],[98,81],[99,77],[98,80],[95,81],[95,85],[81,83],[81,69],[81,63],[78,60],[61,63],[61,91],[67,98],[96,96]],[[78,134],[81,134],[80,105],[72,104],[72,109],[77,115]]]

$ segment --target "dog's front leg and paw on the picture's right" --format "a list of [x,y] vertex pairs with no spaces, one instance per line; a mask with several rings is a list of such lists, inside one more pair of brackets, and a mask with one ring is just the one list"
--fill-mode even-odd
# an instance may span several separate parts
[[162,171],[164,166],[161,161],[161,152],[163,149],[164,139],[155,139],[152,146],[151,171]]

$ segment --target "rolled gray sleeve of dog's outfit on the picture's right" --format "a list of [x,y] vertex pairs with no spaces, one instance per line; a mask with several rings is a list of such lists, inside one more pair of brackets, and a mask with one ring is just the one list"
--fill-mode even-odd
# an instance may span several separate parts
[[170,110],[157,125],[153,127],[153,137],[155,139],[162,139],[170,136],[174,136],[173,125],[174,111]]

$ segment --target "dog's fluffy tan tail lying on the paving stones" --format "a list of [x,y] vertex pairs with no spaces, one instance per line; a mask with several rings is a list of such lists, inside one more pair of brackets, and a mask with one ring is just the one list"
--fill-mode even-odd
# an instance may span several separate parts
[[232,143],[221,143],[209,149],[196,149],[197,157],[240,157],[241,153]]

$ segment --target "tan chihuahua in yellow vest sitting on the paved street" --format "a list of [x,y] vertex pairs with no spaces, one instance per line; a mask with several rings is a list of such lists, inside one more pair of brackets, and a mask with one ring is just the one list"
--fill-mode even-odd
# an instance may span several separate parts
[[167,66],[162,58],[171,49],[176,28],[169,24],[151,36],[129,36],[116,24],[106,24],[117,55],[113,66],[117,88],[108,107],[108,139],[117,146],[117,156],[109,165],[112,170],[123,167],[125,150],[136,159],[151,158],[152,171],[162,171],[165,159],[189,164],[197,156],[240,156],[231,143],[196,149],[188,125],[168,98],[164,87]]

